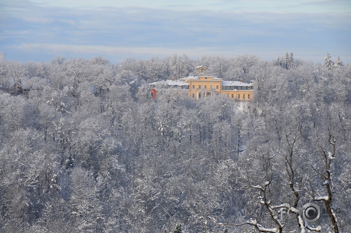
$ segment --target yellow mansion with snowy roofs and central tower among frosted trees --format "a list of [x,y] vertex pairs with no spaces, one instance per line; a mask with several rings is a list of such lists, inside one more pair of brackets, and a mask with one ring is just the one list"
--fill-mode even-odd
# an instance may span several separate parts
[[195,67],[195,74],[179,80],[159,81],[150,83],[152,98],[156,98],[157,88],[175,88],[188,90],[189,97],[200,99],[205,96],[224,94],[228,98],[239,101],[250,101],[253,99],[252,83],[240,81],[223,81],[221,78],[207,74],[206,66]]

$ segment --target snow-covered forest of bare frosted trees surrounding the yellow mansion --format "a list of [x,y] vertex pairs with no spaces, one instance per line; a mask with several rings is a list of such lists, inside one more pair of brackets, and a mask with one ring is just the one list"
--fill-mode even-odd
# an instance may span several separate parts
[[[197,65],[253,101],[152,100]],[[0,60],[0,232],[351,232],[350,107],[329,54]]]

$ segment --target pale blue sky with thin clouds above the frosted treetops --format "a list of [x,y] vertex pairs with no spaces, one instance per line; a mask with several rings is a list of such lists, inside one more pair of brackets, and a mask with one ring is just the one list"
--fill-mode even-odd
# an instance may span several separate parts
[[351,62],[351,0],[0,0],[0,59],[187,54]]

